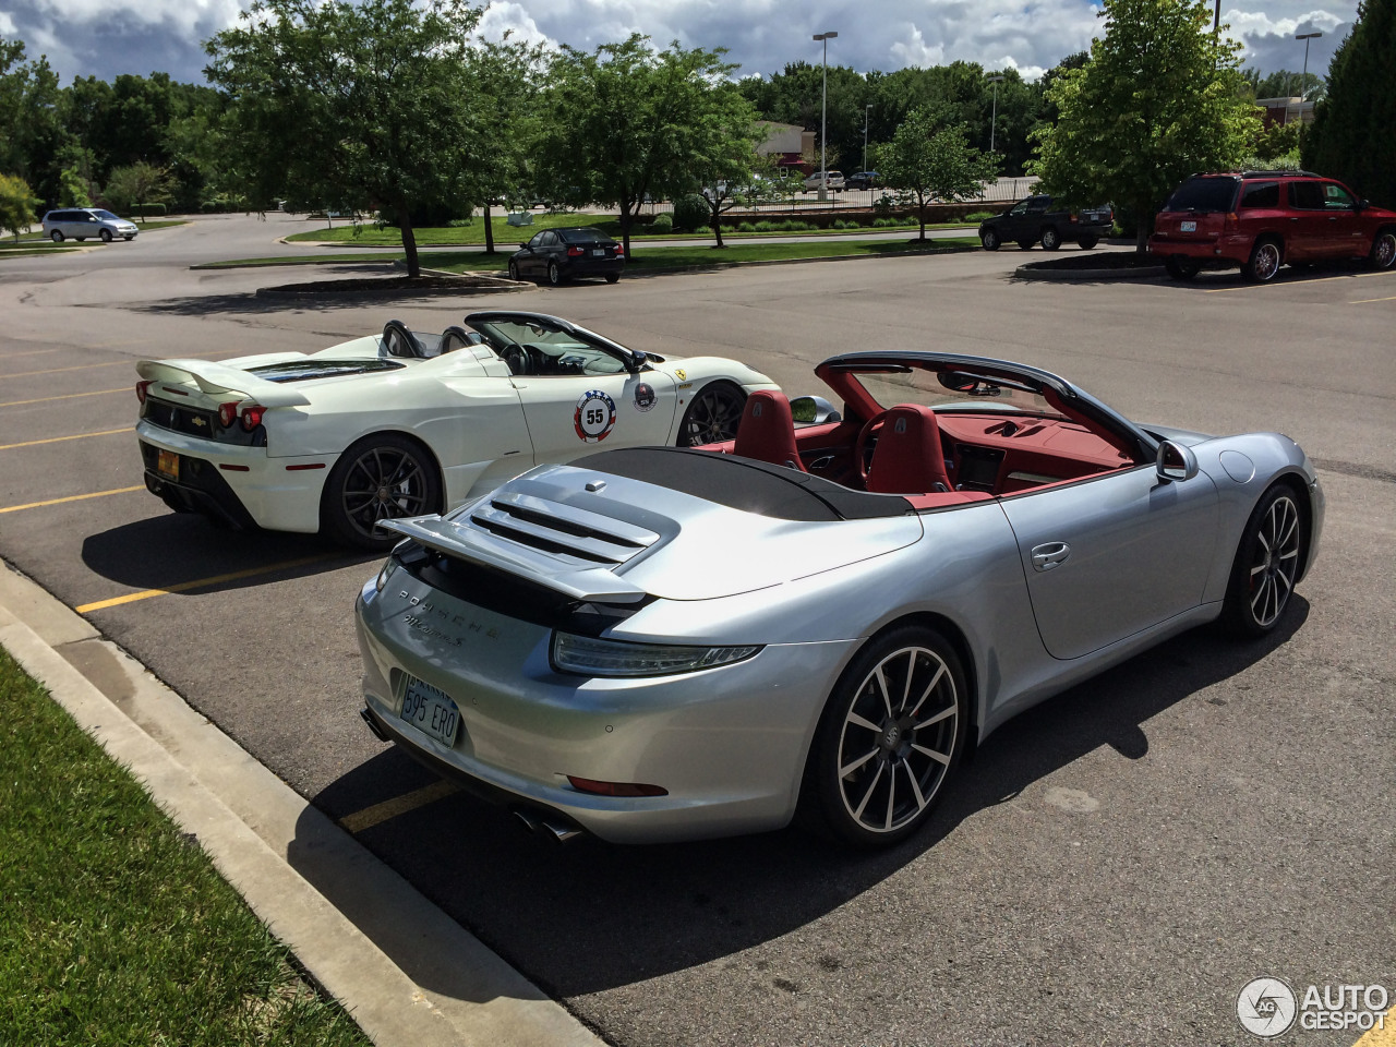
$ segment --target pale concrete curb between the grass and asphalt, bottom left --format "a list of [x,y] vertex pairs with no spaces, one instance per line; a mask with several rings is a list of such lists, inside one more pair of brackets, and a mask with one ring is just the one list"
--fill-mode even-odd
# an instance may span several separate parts
[[0,644],[198,836],[376,1044],[600,1047],[85,618],[4,561],[0,568]]

